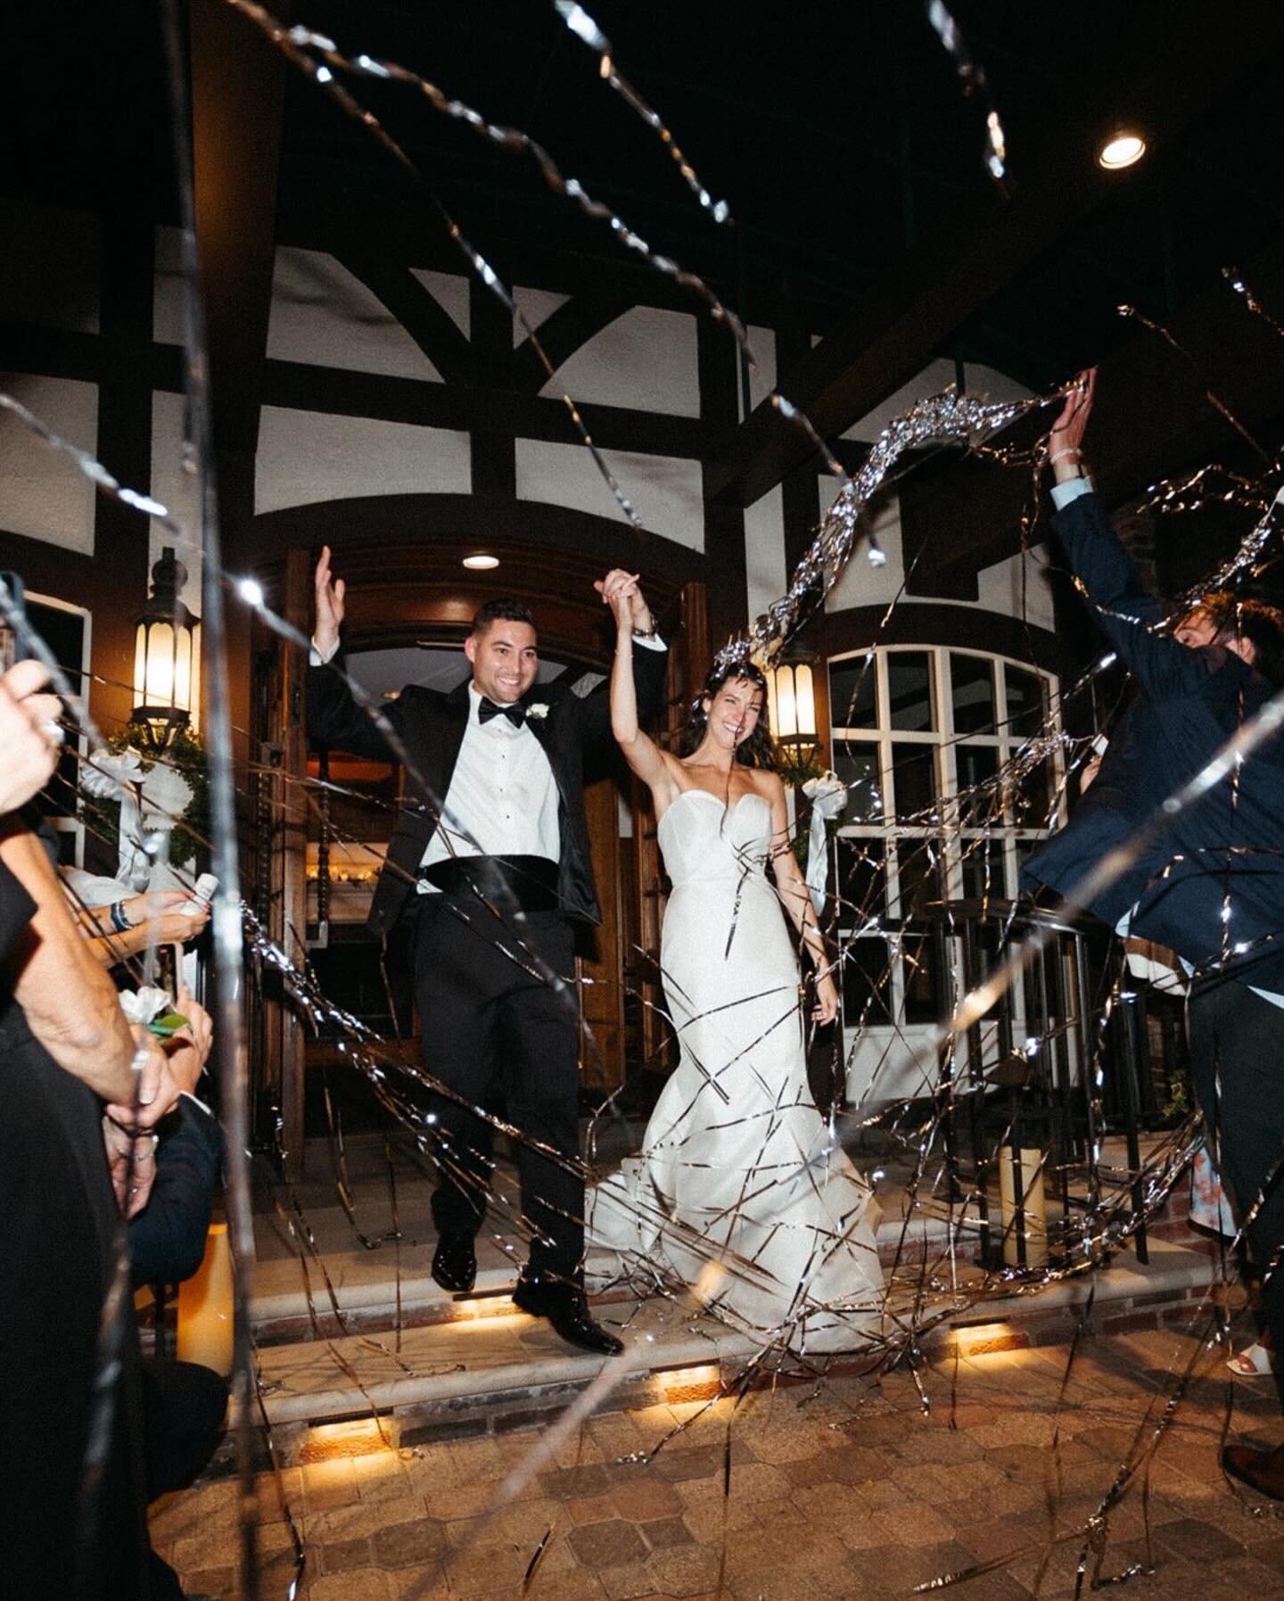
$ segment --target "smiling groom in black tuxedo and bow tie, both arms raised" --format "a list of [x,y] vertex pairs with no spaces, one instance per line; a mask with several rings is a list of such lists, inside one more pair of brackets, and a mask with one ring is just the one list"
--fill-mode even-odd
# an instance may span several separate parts
[[[594,588],[608,605],[631,586],[634,575],[615,570]],[[315,596],[309,736],[354,756],[399,760],[328,666],[344,613],[344,584],[331,581],[328,548],[317,564]],[[637,698],[647,712],[663,703],[668,656],[636,589],[631,604],[634,634],[652,647],[634,652]],[[592,1321],[583,1292],[572,988],[573,922],[600,921],[583,757],[586,748],[610,741],[607,685],[586,696],[564,684],[536,685],[535,620],[519,600],[484,605],[464,655],[471,680],[448,695],[411,684],[384,708],[408,759],[407,804],[370,913],[376,933],[413,917],[424,1061],[459,1097],[439,1095],[432,1105],[440,1167],[432,1196],[439,1234],[432,1276],[448,1290],[472,1289],[474,1238],[493,1167],[490,1124],[472,1108],[484,1108],[498,1082],[508,1117],[524,1135],[522,1212],[532,1226],[530,1260],[514,1302],[548,1318],[570,1343],[610,1354],[621,1343]],[[562,983],[549,983],[549,972]]]

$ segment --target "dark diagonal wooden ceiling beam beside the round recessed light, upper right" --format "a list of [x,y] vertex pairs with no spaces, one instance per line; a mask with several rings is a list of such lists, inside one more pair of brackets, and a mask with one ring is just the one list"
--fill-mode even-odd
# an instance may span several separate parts
[[[796,367],[781,392],[825,437],[837,437],[937,352],[969,315],[1037,255],[1063,239],[1127,175],[1095,163],[1100,134],[1127,107],[1154,149],[1180,131],[1281,48],[1274,0],[1246,0],[1210,14],[1145,0],[1121,8],[1108,61],[1081,74],[1012,152],[1015,189],[973,194],[945,227],[909,251],[884,283],[853,307]],[[804,432],[767,402],[711,463],[716,495],[752,504],[812,456]]]

